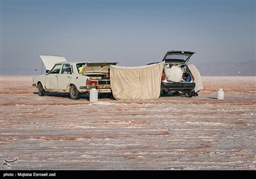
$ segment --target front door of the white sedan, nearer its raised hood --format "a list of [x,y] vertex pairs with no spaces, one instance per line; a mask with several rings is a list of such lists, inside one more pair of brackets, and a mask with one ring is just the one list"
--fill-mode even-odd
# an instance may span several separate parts
[[49,91],[58,90],[58,76],[62,64],[55,65],[52,70],[45,76],[45,88]]

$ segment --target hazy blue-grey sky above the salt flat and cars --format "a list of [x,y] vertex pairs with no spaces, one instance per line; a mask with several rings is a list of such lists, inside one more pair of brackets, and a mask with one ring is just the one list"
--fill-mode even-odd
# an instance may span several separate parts
[[40,54],[141,66],[184,50],[209,75],[221,61],[255,65],[255,28],[255,1],[246,0],[1,0],[1,74],[40,74]]

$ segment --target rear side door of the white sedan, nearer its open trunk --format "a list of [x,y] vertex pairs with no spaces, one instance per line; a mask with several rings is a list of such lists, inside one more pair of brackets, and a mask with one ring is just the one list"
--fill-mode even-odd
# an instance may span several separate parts
[[58,76],[58,89],[67,90],[70,79],[72,78],[72,69],[70,64],[63,64]]

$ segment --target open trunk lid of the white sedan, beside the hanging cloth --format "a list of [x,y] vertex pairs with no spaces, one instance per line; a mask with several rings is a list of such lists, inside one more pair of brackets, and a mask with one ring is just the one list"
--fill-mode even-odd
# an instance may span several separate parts
[[108,74],[110,65],[116,65],[117,62],[97,62],[97,63],[86,63],[82,74],[86,73],[104,73]]

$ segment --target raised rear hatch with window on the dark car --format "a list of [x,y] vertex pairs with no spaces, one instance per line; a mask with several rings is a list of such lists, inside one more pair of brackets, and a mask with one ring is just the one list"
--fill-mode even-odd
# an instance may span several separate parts
[[163,61],[166,61],[167,63],[188,63],[193,54],[195,54],[195,52],[168,51],[166,52]]

